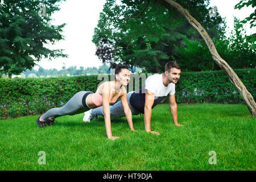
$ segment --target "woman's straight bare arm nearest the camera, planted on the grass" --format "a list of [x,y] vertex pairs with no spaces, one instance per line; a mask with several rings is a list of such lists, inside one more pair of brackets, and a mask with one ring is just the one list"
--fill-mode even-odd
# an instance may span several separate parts
[[106,134],[108,136],[108,139],[114,140],[119,137],[113,137],[112,132],[111,132],[109,96],[110,96],[110,85],[105,84],[102,87],[102,107],[103,107],[103,111],[104,111]]

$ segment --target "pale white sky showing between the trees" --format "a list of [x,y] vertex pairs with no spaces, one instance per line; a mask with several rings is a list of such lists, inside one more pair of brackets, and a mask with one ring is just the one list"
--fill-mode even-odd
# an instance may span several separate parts
[[[49,48],[65,49],[64,53],[68,54],[68,58],[58,58],[52,61],[42,59],[38,65],[49,69],[61,69],[70,66],[79,67],[98,67],[102,65],[101,61],[95,55],[96,46],[92,43],[94,27],[103,9],[106,0],[84,1],[84,0],[66,0],[60,5],[60,11],[56,12],[52,17],[55,19],[54,24],[67,23],[63,28],[65,40],[57,42],[55,45],[49,45]],[[251,7],[245,7],[241,10],[234,10],[240,0],[210,0],[210,6],[217,6],[218,12],[222,18],[226,17],[227,26],[233,28],[233,16],[244,19],[253,12]],[[256,32],[246,28],[247,33]],[[35,69],[39,67],[36,66]]]

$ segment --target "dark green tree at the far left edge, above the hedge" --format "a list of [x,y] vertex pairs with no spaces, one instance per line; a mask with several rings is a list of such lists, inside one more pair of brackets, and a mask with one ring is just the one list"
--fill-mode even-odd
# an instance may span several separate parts
[[[0,4],[0,72],[10,77],[31,69],[42,57],[67,57],[63,49],[45,46],[64,39],[61,32],[65,23],[51,24],[51,15],[60,10],[57,3],[61,1],[65,0],[5,0]],[[45,5],[46,14],[41,16],[39,5]]]

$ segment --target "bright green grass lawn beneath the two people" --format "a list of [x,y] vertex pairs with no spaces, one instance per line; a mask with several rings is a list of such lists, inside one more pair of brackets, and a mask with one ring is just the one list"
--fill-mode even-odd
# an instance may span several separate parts
[[[112,121],[106,137],[104,118],[82,122],[83,114],[57,118],[55,126],[39,129],[38,116],[0,121],[0,170],[255,170],[255,119],[245,105],[178,105],[176,127],[168,105],[153,109],[151,130],[143,115]],[[39,165],[39,151],[46,164]],[[209,151],[217,164],[210,165]]]

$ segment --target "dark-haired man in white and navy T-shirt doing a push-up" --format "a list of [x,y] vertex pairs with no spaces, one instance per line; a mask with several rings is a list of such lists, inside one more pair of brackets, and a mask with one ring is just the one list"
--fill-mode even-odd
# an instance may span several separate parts
[[[142,88],[136,92],[127,94],[127,101],[133,115],[144,113],[145,130],[152,134],[159,135],[156,131],[151,131],[152,108],[158,105],[166,96],[168,96],[170,111],[174,124],[183,126],[177,122],[177,104],[175,101],[175,84],[180,78],[180,65],[176,61],[169,61],[164,68],[164,74],[155,74],[149,76]],[[85,112],[83,121],[89,122],[95,115],[104,116],[102,107]],[[110,106],[110,118],[124,117],[122,104],[117,102]]]

